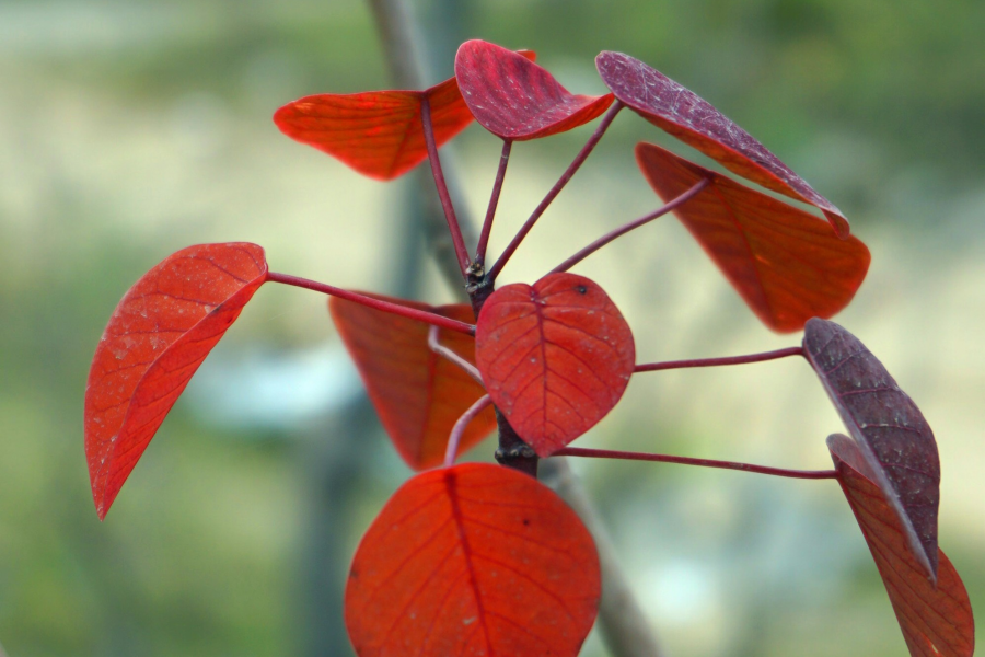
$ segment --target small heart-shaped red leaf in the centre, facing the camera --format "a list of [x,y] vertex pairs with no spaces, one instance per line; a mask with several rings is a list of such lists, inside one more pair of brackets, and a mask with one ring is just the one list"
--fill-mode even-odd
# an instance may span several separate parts
[[493,403],[548,457],[616,405],[636,348],[602,288],[564,273],[493,292],[476,323],[475,357]]

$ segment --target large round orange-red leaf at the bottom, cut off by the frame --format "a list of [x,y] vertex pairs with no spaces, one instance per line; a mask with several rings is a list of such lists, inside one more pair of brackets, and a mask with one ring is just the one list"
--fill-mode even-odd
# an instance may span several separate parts
[[346,625],[360,657],[575,657],[600,593],[592,538],[557,495],[466,463],[383,507],[352,562]]

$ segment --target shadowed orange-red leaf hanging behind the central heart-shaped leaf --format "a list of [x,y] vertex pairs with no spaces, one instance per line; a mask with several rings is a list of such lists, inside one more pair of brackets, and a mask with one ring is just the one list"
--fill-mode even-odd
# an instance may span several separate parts
[[[432,308],[424,303],[369,295],[440,315],[475,321],[466,304]],[[383,427],[414,470],[440,465],[455,420],[480,396],[482,385],[460,367],[431,351],[427,324],[333,297],[332,320],[366,383]],[[475,339],[440,330],[439,342],[475,362]],[[479,442],[496,426],[493,408],[465,429],[459,453]]]

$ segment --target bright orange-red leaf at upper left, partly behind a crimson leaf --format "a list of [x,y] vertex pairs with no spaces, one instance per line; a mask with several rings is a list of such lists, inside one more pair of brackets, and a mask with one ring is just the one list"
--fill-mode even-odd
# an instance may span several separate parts
[[[536,54],[520,55],[535,59]],[[410,171],[428,157],[420,104],[428,99],[440,147],[472,123],[459,84],[449,78],[425,91],[322,93],[288,103],[274,114],[280,131],[380,181]]]

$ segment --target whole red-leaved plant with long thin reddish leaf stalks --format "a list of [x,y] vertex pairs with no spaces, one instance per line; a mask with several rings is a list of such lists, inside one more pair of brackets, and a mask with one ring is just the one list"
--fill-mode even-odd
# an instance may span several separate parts
[[[431,307],[274,273],[255,244],[190,246],[123,298],[96,349],[85,394],[85,451],[104,518],[188,380],[266,283],[326,293],[343,341],[399,454],[422,471],[401,487],[356,553],[346,623],[361,656],[573,657],[601,595],[599,558],[578,516],[536,480],[557,456],[676,462],[834,479],[858,519],[914,656],[969,656],[967,595],[937,545],[940,465],[930,427],[865,346],[827,321],[853,298],[869,252],[844,215],[715,107],[617,53],[596,58],[611,93],[576,95],[534,62],[482,41],[463,44],[455,77],[424,91],[320,94],[281,107],[289,137],[379,180],[428,160],[470,304]],[[662,148],[639,168],[664,205],[603,235],[531,284],[496,279],[547,206],[624,108],[826,222]],[[487,267],[514,141],[598,128]],[[475,118],[502,140],[478,243],[468,250],[438,148]],[[673,211],[769,328],[801,345],[765,354],[638,364],[633,332],[596,283],[569,269]],[[801,356],[850,437],[827,445],[830,471],[569,447],[619,401],[634,374]],[[498,428],[500,465],[456,464]]]

